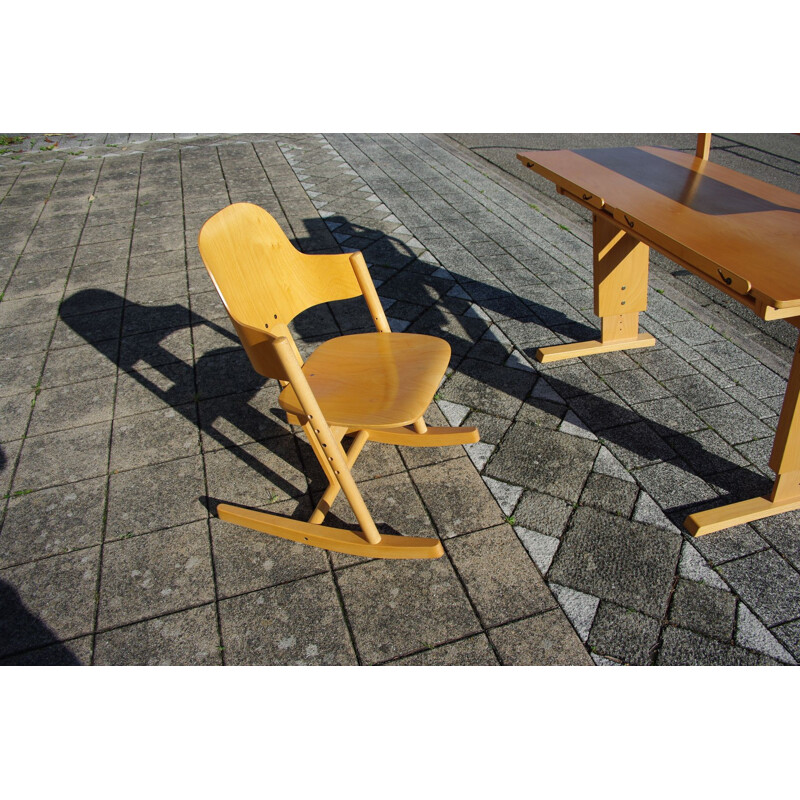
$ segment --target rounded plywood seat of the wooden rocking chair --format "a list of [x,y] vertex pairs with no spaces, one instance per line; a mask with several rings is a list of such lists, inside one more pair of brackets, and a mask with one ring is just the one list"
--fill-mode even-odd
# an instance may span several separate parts
[[[450,345],[417,333],[356,333],[323,342],[303,373],[329,425],[396,428],[419,419],[450,362]],[[305,416],[291,385],[283,409]]]

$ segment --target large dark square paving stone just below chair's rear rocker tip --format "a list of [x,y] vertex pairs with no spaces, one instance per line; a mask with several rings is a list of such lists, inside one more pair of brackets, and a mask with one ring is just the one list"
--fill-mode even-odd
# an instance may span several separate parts
[[596,442],[517,422],[485,474],[576,502],[598,450]]

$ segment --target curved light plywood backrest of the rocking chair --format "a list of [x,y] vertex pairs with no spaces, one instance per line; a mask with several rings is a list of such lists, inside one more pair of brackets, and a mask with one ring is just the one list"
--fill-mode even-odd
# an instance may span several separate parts
[[294,317],[319,303],[362,294],[348,254],[301,253],[252,203],[214,214],[197,244],[253,368],[266,377],[287,380],[273,352],[276,336],[287,337],[301,360],[287,327]]

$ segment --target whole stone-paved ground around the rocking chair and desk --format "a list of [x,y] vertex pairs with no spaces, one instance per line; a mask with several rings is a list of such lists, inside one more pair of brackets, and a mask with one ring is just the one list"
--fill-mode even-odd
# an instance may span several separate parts
[[[513,153],[605,137],[21,136],[0,146],[2,663],[800,658],[800,515],[680,528],[769,485],[796,329],[654,257],[656,348],[533,360],[596,330],[590,229]],[[645,139],[693,148],[615,141]],[[718,136],[712,158],[799,188],[798,137]],[[379,525],[434,531],[444,558],[328,554],[209,513],[304,515],[322,483],[199,259],[202,223],[240,200],[307,252],[363,250],[393,329],[450,343],[429,418],[481,442],[371,445],[357,467]],[[368,324],[348,302],[295,330],[310,347]]]

